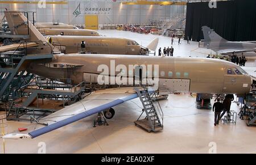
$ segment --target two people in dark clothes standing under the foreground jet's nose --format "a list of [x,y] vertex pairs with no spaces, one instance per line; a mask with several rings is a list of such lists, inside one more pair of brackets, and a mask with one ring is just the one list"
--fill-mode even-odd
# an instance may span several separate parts
[[228,112],[229,116],[230,107],[233,100],[234,95],[226,95],[225,99],[223,100],[223,103],[220,102],[220,98],[217,98],[217,102],[213,104],[212,108],[212,111],[214,112],[214,126],[219,124],[219,121],[225,115],[226,112]]

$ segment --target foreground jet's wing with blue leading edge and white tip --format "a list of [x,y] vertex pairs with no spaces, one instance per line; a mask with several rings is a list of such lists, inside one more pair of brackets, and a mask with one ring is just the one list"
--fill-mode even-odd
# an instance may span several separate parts
[[134,87],[99,90],[86,96],[81,101],[77,101],[51,115],[43,117],[38,123],[30,126],[32,130],[28,128],[24,134],[10,133],[2,138],[35,138],[137,97],[138,94],[134,90]]

